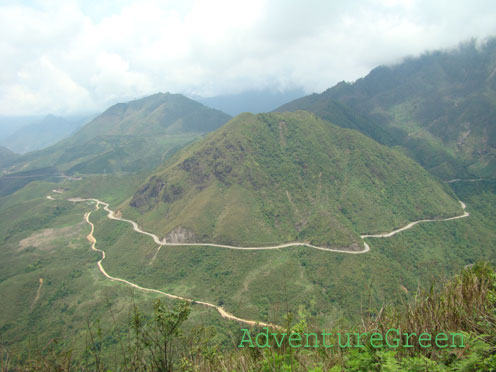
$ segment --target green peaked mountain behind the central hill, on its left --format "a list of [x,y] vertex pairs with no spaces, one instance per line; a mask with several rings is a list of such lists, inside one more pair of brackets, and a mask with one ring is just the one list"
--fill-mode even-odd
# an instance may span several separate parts
[[21,157],[17,169],[56,167],[67,174],[153,169],[229,118],[182,95],[159,93],[110,107],[71,137]]

